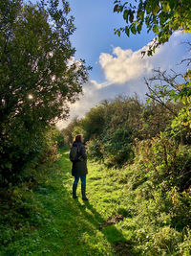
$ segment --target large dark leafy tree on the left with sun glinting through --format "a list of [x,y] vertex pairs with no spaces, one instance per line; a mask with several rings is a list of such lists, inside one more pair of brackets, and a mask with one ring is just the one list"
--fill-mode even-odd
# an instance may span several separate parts
[[20,173],[40,152],[43,134],[69,114],[87,81],[74,61],[74,18],[67,1],[0,2],[0,178]]

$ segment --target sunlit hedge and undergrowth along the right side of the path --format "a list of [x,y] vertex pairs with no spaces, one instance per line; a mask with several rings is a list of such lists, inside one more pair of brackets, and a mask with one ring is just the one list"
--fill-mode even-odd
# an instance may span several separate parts
[[65,129],[68,134],[70,128],[71,134],[83,132],[89,158],[96,161],[94,166],[100,165],[107,179],[112,176],[113,183],[108,187],[111,195],[104,202],[113,201],[115,188],[114,203],[121,208],[117,207],[118,212],[113,213],[116,217],[108,221],[119,213],[123,216],[116,226],[123,234],[119,236],[120,250],[126,248],[126,253],[191,253],[189,74],[156,70],[154,77],[145,81],[149,89],[145,105],[136,95],[118,96],[96,105],[84,118],[75,119],[73,127]]

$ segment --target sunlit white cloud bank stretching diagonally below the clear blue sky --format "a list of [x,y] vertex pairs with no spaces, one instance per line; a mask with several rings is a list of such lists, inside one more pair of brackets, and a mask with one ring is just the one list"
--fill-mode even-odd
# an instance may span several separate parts
[[[147,56],[141,58],[141,52],[145,51],[147,46],[135,52],[131,49],[113,47],[112,54],[100,54],[99,64],[106,80],[103,82],[92,80],[84,84],[84,95],[71,105],[70,120],[74,116],[83,117],[101,100],[115,98],[118,94],[132,96],[136,92],[143,99],[147,90],[143,78],[151,77],[154,68],[181,71],[182,67],[178,63],[187,55],[185,47],[180,43],[182,40],[185,41],[185,37],[177,33],[171,37],[169,43],[160,46],[156,54],[149,58]],[[59,122],[58,128],[66,127],[70,120]]]

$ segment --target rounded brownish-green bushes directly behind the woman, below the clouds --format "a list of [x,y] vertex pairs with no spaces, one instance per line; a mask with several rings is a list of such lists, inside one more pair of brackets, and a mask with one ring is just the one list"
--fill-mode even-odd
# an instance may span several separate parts
[[[179,111],[179,105],[168,105]],[[90,157],[100,158],[110,166],[121,166],[132,161],[135,138],[155,137],[173,118],[174,115],[159,103],[151,101],[143,105],[137,95],[118,96],[91,108],[84,118],[75,119],[63,134],[67,137],[70,131],[73,138],[74,134],[83,133]]]

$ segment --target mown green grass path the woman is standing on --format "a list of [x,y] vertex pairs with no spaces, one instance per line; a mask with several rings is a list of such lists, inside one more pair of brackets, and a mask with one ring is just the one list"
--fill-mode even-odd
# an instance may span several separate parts
[[127,245],[132,233],[122,221],[128,203],[124,184],[116,182],[114,170],[108,175],[96,163],[88,169],[89,201],[81,199],[80,183],[73,199],[69,152],[62,151],[48,180],[33,193],[41,224],[34,223],[32,232],[0,255],[132,255]]

